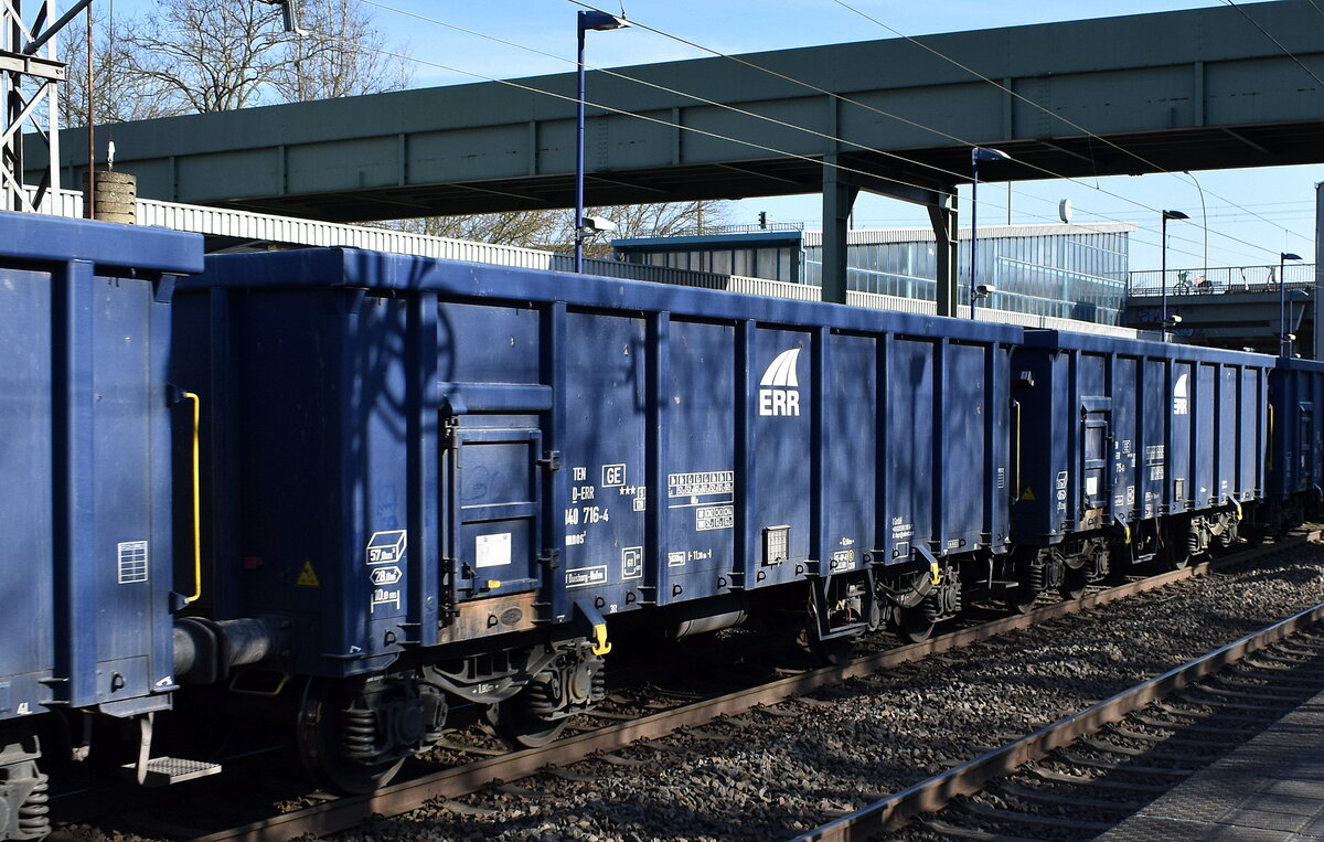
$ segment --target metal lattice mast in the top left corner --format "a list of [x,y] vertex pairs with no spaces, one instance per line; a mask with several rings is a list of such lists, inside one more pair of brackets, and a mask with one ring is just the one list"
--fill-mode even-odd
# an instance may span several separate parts
[[[90,3],[79,0],[56,20],[56,0],[29,3],[26,16],[24,0],[0,0],[0,195],[5,210],[38,210],[46,192],[60,183],[60,82],[65,81],[65,65],[56,58],[54,36]],[[24,167],[24,134],[41,138],[49,150],[40,172]]]

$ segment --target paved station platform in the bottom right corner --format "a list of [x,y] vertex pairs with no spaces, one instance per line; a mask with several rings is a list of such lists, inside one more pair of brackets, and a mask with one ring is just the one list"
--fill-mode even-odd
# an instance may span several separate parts
[[1324,692],[1098,839],[1324,841]]

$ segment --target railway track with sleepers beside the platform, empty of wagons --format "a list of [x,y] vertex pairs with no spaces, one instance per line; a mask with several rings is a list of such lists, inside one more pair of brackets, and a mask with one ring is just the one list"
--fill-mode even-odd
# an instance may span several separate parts
[[1324,604],[843,816],[798,842],[869,838],[903,827],[903,838],[914,839],[1091,839],[1324,690],[1321,621]]

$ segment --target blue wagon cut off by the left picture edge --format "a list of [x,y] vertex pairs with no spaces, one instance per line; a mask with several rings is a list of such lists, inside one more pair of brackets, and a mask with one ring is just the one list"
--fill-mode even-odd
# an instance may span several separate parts
[[0,838],[49,831],[34,728],[171,706],[166,384],[175,275],[201,238],[0,213]]

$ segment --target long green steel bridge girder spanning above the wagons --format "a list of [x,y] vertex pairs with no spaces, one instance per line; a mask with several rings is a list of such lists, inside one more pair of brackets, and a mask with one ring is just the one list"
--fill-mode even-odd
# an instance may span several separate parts
[[[1308,4],[1251,11],[1324,77],[1324,21]],[[990,180],[1317,163],[1324,155],[1324,90],[1237,9],[920,41],[1016,95],[906,40],[743,57],[845,99],[723,58],[620,70],[748,114],[593,73],[591,103],[626,113],[589,106],[588,201],[812,193],[822,187],[822,160],[834,155],[861,179],[927,191],[967,180],[970,143],[1013,156],[984,173]],[[138,175],[147,197],[339,221],[568,207],[573,75],[518,83],[119,124],[117,165]],[[65,135],[61,169],[65,184],[75,184],[86,135]]]

